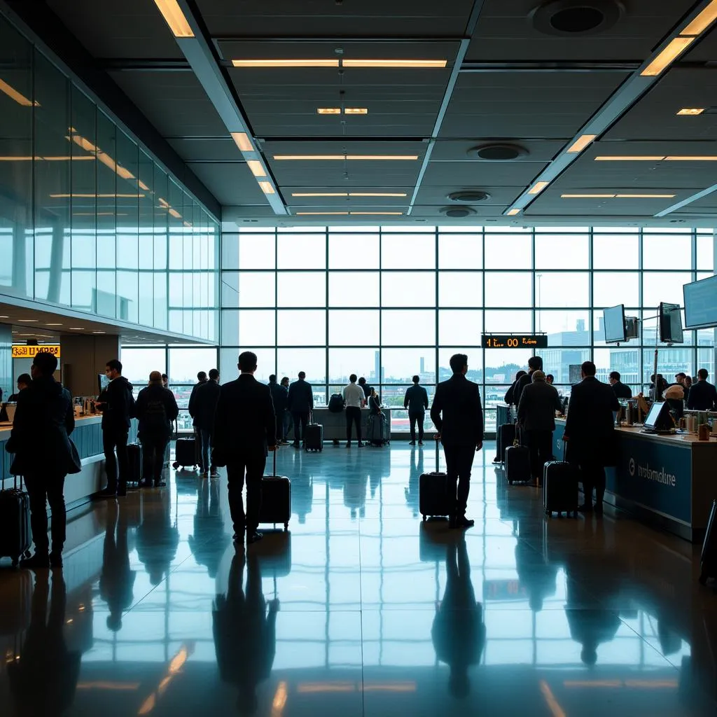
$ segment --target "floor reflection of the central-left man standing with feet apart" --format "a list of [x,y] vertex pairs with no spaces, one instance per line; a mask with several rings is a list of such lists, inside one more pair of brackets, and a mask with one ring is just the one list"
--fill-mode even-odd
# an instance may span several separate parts
[[239,688],[239,712],[253,714],[258,705],[257,686],[269,677],[274,664],[279,601],[273,599],[267,613],[255,553],[249,554],[247,587],[242,590],[246,565],[244,551],[237,551],[229,569],[227,593],[217,595],[212,622],[219,676]]

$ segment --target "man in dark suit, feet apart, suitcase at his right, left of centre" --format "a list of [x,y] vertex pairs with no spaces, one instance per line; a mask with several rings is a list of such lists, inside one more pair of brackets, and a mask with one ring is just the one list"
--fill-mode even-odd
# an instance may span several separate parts
[[[261,540],[259,511],[262,506],[262,475],[268,451],[277,450],[276,415],[269,386],[254,378],[257,355],[251,351],[239,354],[236,381],[222,386],[214,415],[214,465],[227,466],[229,512],[234,521],[234,540]],[[244,513],[242,490],[247,480],[247,511]]]

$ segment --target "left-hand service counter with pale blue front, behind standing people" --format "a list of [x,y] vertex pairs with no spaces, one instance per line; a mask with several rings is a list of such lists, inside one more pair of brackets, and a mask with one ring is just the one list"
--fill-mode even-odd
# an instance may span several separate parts
[[[70,438],[77,447],[82,460],[80,473],[68,475],[65,479],[65,503],[67,508],[76,508],[90,500],[93,493],[102,490],[105,478],[105,455],[102,450],[102,417],[82,416],[75,418],[75,430]],[[0,484],[11,488],[14,479],[10,473],[13,456],[6,452],[5,444],[10,437],[11,424],[0,424]],[[137,422],[130,428],[130,442],[136,440]]]

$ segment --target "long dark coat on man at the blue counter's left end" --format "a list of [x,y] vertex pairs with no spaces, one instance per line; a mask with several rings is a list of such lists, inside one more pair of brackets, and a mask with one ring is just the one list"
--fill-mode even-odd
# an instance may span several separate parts
[[565,435],[572,462],[614,465],[614,417],[619,403],[612,386],[588,376],[573,386]]

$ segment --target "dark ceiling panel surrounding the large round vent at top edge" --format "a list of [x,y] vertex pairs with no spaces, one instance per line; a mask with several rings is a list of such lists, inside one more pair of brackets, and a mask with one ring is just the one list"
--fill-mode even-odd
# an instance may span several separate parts
[[536,0],[486,0],[468,47],[468,60],[644,60],[693,0],[630,0],[613,27],[596,34],[553,35],[531,22]]

